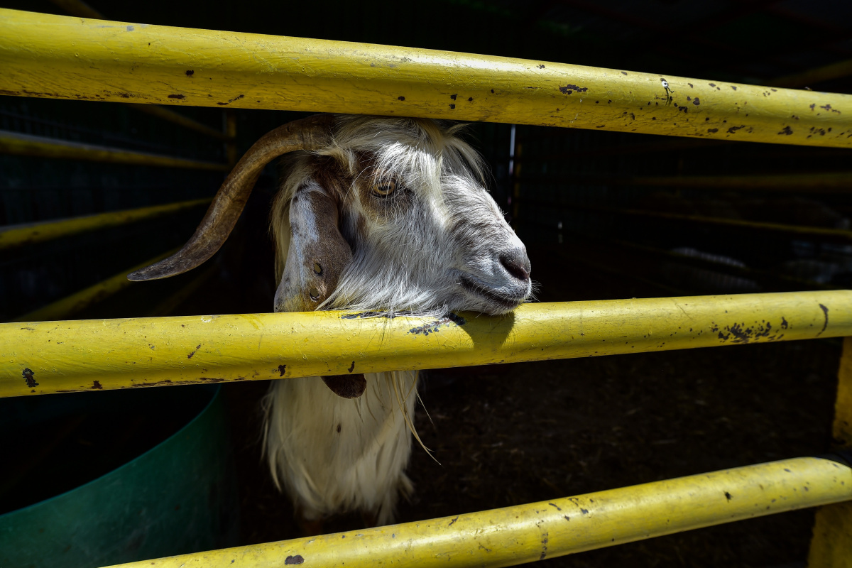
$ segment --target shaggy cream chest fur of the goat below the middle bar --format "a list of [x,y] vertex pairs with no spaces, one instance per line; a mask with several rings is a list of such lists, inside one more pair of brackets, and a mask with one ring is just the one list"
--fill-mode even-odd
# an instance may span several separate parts
[[273,479],[295,497],[305,519],[360,509],[387,525],[400,491],[412,491],[404,473],[412,453],[406,416],[414,416],[417,377],[369,373],[366,380],[358,399],[342,399],[318,377],[303,377],[276,381],[265,400]]

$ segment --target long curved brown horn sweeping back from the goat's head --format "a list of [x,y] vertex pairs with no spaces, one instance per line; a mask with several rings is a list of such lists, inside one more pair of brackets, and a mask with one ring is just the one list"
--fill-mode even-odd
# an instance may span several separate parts
[[318,114],[294,120],[268,132],[245,152],[222,187],[193,237],[169,258],[128,275],[129,280],[155,280],[186,273],[215,255],[243,212],[257,177],[274,158],[295,150],[315,150],[328,144],[334,115]]

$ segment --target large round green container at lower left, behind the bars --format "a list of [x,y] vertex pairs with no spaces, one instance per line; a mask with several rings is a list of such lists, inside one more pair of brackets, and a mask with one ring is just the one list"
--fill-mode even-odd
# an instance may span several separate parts
[[26,505],[0,515],[0,567],[91,568],[236,543],[219,387],[3,399],[0,427],[14,440],[0,453],[0,505]]

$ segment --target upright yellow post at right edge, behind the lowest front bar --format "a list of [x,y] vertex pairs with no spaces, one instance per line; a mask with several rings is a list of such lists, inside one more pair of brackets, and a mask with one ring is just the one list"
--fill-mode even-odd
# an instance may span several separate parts
[[[852,449],[852,337],[843,340],[832,438],[840,448]],[[838,503],[817,510],[808,565],[811,568],[852,567],[850,535],[852,535],[852,503]]]

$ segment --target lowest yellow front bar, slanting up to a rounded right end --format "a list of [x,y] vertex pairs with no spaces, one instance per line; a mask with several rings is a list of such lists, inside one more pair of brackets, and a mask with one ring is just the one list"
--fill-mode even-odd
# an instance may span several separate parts
[[848,499],[852,469],[799,457],[443,519],[122,566],[511,566]]

